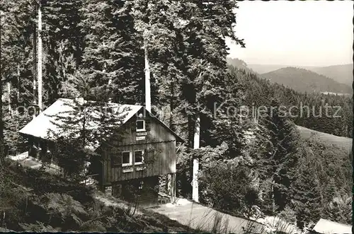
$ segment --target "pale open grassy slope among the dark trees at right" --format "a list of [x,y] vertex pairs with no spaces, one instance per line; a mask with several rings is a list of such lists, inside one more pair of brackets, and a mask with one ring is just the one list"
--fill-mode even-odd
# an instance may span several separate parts
[[302,135],[302,137],[304,137],[304,139],[308,139],[311,136],[311,134],[318,134],[321,140],[326,141],[329,144],[334,144],[336,146],[343,147],[348,152],[351,151],[352,149],[353,139],[351,138],[343,137],[343,136],[334,136],[332,134],[326,134],[321,131],[315,131],[301,126],[297,126],[297,128],[299,129],[300,134]]

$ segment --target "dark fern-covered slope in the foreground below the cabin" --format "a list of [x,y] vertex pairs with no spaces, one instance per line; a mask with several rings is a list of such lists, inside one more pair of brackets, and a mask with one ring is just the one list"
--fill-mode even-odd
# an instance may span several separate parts
[[[107,202],[93,187],[5,160],[0,189],[3,228],[16,232],[186,233],[197,230],[147,209]],[[4,229],[0,229],[0,232]]]

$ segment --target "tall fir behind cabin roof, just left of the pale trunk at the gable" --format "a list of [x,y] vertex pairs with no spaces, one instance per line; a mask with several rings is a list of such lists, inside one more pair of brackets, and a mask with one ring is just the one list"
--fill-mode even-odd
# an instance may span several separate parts
[[130,6],[125,1],[85,0],[81,13],[86,44],[81,73],[90,78],[90,99],[142,103],[144,56]]

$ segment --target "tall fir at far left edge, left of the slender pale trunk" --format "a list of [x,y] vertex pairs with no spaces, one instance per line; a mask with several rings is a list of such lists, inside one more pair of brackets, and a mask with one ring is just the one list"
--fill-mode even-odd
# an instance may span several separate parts
[[[18,140],[16,126],[23,126],[30,120],[28,115],[33,115],[28,111],[35,100],[34,6],[33,1],[1,2],[1,77],[9,87],[4,96],[1,95],[5,99],[1,131],[4,131],[6,152],[24,143],[23,139]],[[1,86],[1,91],[3,88]],[[19,105],[24,108],[18,110]]]

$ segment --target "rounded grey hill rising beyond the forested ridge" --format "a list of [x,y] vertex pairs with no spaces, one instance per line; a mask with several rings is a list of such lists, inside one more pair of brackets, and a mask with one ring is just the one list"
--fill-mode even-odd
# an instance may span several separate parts
[[352,93],[350,86],[338,83],[331,78],[316,74],[314,71],[299,69],[295,67],[285,67],[275,71],[261,74],[273,83],[280,83],[284,86],[299,92],[331,92],[331,93]]

